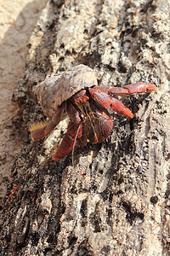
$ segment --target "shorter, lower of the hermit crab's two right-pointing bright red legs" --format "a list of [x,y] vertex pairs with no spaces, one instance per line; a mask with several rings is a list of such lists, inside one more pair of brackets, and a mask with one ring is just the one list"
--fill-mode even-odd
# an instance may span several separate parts
[[129,108],[125,107],[121,101],[118,101],[116,98],[109,96],[103,91],[95,90],[94,88],[89,88],[88,90],[94,100],[104,108],[109,108],[111,106],[111,109],[116,111],[116,113],[122,113],[130,119],[133,118],[133,113]]

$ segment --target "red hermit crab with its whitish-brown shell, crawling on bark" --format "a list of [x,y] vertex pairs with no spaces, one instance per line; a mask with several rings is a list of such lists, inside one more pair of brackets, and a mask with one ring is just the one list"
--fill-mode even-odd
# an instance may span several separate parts
[[154,84],[143,83],[112,88],[98,86],[93,69],[84,65],[72,67],[37,85],[42,111],[51,121],[46,125],[32,125],[31,137],[34,141],[46,137],[68,115],[67,131],[53,155],[54,160],[59,160],[69,154],[74,145],[101,143],[110,135],[113,122],[108,108],[133,118],[133,113],[114,95],[153,90],[156,90]]

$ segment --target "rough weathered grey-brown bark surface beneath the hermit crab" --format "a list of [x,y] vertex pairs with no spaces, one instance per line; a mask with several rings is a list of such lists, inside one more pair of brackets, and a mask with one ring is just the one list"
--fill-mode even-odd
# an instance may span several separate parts
[[71,155],[51,160],[28,138],[8,195],[20,186],[3,207],[3,255],[169,255],[169,7],[85,0],[44,9],[14,92],[27,131],[45,119],[33,86],[80,63],[101,85],[140,81],[157,90],[122,99],[135,118],[115,115],[112,135],[78,149],[74,168]]

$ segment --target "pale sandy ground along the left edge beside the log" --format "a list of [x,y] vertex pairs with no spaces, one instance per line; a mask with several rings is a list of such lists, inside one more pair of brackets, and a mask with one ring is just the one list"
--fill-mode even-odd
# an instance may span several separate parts
[[14,88],[25,71],[27,44],[47,0],[2,0],[0,4],[0,206],[6,193],[14,158],[23,144],[16,137],[11,102]]

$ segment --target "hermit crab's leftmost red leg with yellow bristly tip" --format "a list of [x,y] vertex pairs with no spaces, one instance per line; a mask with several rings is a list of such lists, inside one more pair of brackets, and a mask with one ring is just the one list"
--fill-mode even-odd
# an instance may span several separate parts
[[59,106],[56,113],[54,114],[54,118],[51,120],[51,122],[48,123],[48,125],[43,123],[31,125],[30,131],[32,140],[37,141],[42,137],[47,136],[50,131],[54,130],[55,126],[59,125],[63,111],[64,105],[62,104],[61,106]]

